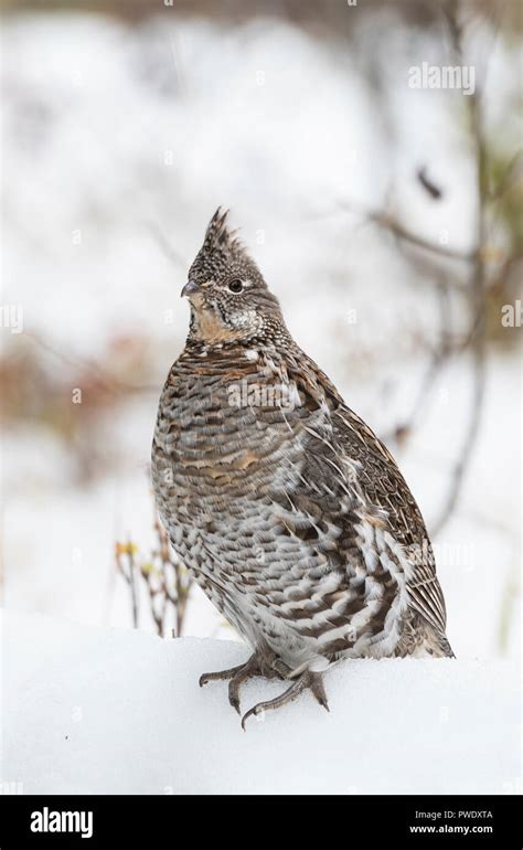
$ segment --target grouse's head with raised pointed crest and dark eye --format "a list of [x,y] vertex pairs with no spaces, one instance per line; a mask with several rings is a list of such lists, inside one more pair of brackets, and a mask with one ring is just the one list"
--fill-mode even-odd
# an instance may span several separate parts
[[285,328],[277,298],[218,208],[182,289],[193,339],[207,343],[271,337]]

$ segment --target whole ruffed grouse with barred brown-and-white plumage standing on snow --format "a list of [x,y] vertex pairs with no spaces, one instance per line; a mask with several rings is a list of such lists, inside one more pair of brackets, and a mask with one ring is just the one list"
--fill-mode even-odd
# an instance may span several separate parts
[[394,458],[290,336],[217,210],[182,295],[185,348],[163,387],[152,478],[171,543],[253,649],[205,673],[288,680],[276,709],[340,659],[452,656],[419,509]]

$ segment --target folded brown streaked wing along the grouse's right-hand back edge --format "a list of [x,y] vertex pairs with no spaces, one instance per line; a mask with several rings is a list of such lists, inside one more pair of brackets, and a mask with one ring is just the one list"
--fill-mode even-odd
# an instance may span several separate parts
[[[329,378],[307,355],[287,359],[289,376],[297,383],[302,403],[329,408],[332,432],[320,445],[309,437],[313,463],[311,470],[318,480],[323,475],[346,476],[345,486],[363,496],[370,512],[385,518],[392,536],[407,553],[413,571],[407,582],[412,607],[437,633],[445,634],[446,609],[441,587],[436,576],[436,563],[421,512],[394,457],[373,431],[344,404]],[[329,448],[327,446],[329,444]],[[338,470],[338,472],[335,471]],[[353,476],[351,478],[351,476]],[[355,477],[355,480],[354,480]],[[341,490],[343,481],[340,482]]]

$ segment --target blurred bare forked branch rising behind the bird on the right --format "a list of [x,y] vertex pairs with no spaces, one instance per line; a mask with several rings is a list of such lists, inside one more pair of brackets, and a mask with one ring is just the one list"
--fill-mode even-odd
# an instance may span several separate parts
[[[456,65],[463,64],[463,15],[465,11],[471,11],[470,7],[460,3],[459,0],[442,0],[440,12],[447,25],[449,44],[453,54]],[[501,24],[502,10],[494,21],[492,43],[499,32]],[[495,13],[495,9],[494,9]],[[491,15],[493,20],[493,14]],[[449,475],[448,491],[442,500],[442,504],[433,523],[433,533],[437,535],[452,516],[459,501],[463,479],[467,475],[470,459],[473,455],[478,434],[481,427],[481,421],[484,407],[484,385],[485,385],[485,358],[487,358],[487,291],[489,288],[502,289],[505,280],[509,279],[514,266],[522,258],[521,246],[510,244],[505,251],[493,249],[489,245],[489,221],[492,213],[495,213],[495,203],[508,193],[514,179],[517,177],[522,151],[516,151],[504,166],[500,179],[494,189],[489,185],[490,156],[487,144],[487,132],[483,126],[483,87],[485,83],[488,67],[488,57],[484,62],[483,78],[477,83],[474,92],[465,98],[468,116],[469,137],[471,140],[472,157],[474,162],[474,204],[476,204],[476,232],[473,245],[469,251],[458,251],[430,242],[426,237],[408,230],[403,222],[386,210],[365,210],[357,204],[341,204],[348,212],[361,214],[364,220],[376,224],[384,231],[391,233],[398,251],[410,263],[417,267],[421,265],[424,277],[436,285],[439,293],[439,342],[431,352],[428,368],[421,379],[419,390],[410,414],[398,423],[388,437],[396,442],[404,442],[412,434],[426,400],[435,385],[439,373],[450,358],[469,354],[471,359],[471,402],[468,412],[467,425],[462,436],[461,444],[457,451],[457,457],[452,464]],[[425,171],[424,171],[425,173]],[[419,179],[419,171],[417,174]],[[439,200],[440,192],[435,191],[430,183],[429,192],[433,201]],[[415,252],[406,252],[406,247],[413,247]],[[490,270],[489,263],[492,255],[498,253],[502,256],[502,263],[493,274]],[[425,259],[424,259],[425,256]],[[435,265],[426,262],[428,257],[436,261],[459,261],[460,276],[452,273],[452,266],[448,264]],[[462,281],[462,264],[466,264],[466,280]],[[451,323],[451,311],[448,301],[448,291],[452,287],[458,289],[468,302],[469,327],[465,336],[452,339],[449,332]],[[385,435],[385,439],[387,435]]]

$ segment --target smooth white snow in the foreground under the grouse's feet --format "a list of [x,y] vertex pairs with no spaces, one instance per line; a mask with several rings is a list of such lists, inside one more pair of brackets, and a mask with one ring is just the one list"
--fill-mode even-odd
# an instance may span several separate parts
[[[244,733],[201,672],[242,644],[3,617],[2,783],[24,794],[513,793],[519,677],[508,661],[382,660],[327,677]],[[243,708],[281,684],[255,681]],[[19,787],[19,786],[17,786]]]

